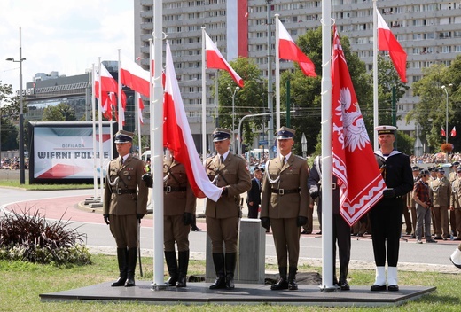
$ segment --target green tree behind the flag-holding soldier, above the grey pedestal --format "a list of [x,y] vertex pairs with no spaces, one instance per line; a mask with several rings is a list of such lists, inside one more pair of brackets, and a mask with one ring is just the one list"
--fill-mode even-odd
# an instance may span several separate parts
[[[245,86],[235,92],[234,125],[232,127],[232,95],[236,83],[226,71],[220,71],[218,77],[218,126],[238,131],[238,122],[246,114],[264,113],[267,103],[267,82],[262,80],[261,71],[252,58],[237,58],[230,66],[242,77]],[[212,90],[215,95],[215,88]],[[262,117],[246,119],[242,125],[243,143],[251,146],[257,133],[254,130],[263,129]]]

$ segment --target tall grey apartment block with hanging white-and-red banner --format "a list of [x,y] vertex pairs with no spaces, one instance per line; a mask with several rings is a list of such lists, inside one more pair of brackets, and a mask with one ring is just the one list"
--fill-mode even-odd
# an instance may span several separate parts
[[[461,1],[379,0],[379,12],[408,54],[407,79],[418,82],[422,70],[433,64],[449,66],[461,53]],[[340,35],[346,35],[351,49],[372,69],[372,0],[332,0],[332,18]],[[152,38],[152,0],[135,1],[135,51],[148,64]],[[201,27],[228,60],[254,58],[268,76],[268,25],[270,10],[271,51],[275,55],[274,14],[296,41],[309,29],[321,27],[321,0],[163,0],[163,31],[168,35],[180,81],[192,134],[200,136],[201,121]],[[273,61],[273,57],[271,58]],[[283,67],[293,66],[284,62]],[[275,66],[273,66],[275,68]],[[274,69],[273,69],[274,70]],[[207,70],[207,90],[215,70]],[[442,102],[442,99],[441,99]],[[397,103],[397,114],[408,113],[418,104],[410,88]],[[214,126],[215,98],[207,94],[208,129]],[[320,110],[320,107],[319,107]],[[413,131],[415,125],[398,121],[399,129]]]

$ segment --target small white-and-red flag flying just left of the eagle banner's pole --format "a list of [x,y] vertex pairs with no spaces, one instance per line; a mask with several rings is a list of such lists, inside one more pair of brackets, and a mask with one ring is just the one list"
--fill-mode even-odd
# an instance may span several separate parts
[[316,77],[314,63],[294,43],[291,35],[288,34],[280,20],[278,20],[278,55],[279,58],[293,60],[298,63],[302,73],[305,75]]

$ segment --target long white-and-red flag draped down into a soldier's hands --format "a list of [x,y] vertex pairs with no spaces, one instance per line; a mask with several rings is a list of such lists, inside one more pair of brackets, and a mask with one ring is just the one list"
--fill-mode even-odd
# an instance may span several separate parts
[[163,95],[163,146],[175,151],[175,159],[184,165],[195,196],[217,201],[223,189],[210,182],[199,159],[176,80],[168,41],[165,75],[167,79]]

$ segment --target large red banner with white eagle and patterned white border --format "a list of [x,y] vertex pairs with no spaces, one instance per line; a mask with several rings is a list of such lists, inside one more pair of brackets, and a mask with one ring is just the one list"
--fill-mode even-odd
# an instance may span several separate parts
[[340,186],[340,214],[353,225],[382,198],[386,188],[350,78],[348,64],[333,27],[332,173]]

